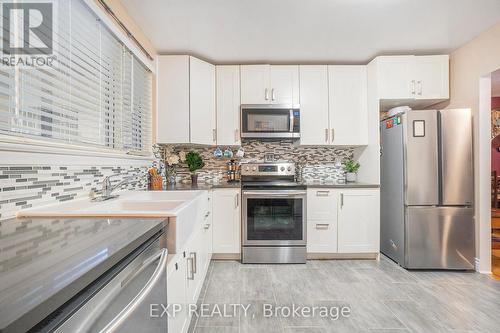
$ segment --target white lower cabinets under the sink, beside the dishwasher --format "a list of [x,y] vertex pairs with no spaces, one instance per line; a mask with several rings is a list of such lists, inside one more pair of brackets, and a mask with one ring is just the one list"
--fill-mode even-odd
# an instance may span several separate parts
[[182,311],[169,317],[168,332],[184,333],[189,329],[189,305],[196,304],[212,259],[212,201],[196,214],[196,226],[185,246],[170,259],[167,265],[167,301],[170,314],[176,306]]

